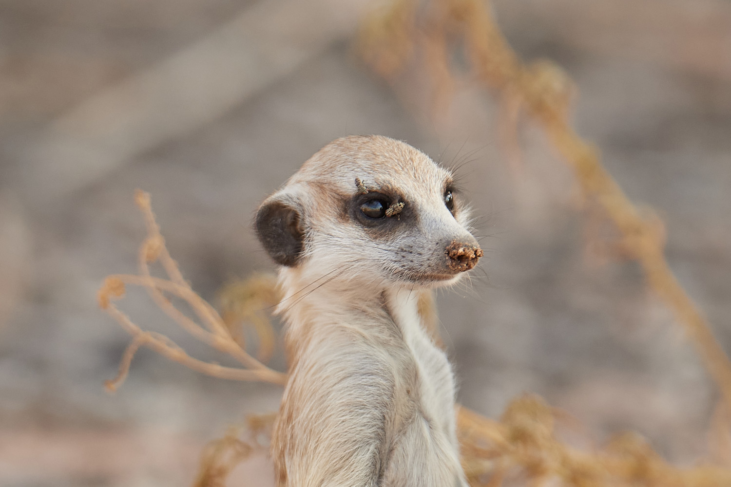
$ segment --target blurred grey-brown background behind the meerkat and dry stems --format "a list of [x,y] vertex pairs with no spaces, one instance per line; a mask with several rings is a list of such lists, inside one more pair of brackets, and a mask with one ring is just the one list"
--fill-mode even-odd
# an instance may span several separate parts
[[[180,486],[205,442],[281,389],[203,377],[141,350],[97,308],[135,272],[143,188],[205,299],[273,266],[254,209],[315,151],[384,134],[461,164],[481,270],[439,293],[459,400],[491,417],[525,391],[600,443],[632,429],[667,459],[707,453],[718,392],[632,263],[587,251],[572,174],[472,83],[431,118],[420,66],[388,85],[353,47],[367,0],[0,1],[0,484]],[[667,258],[731,350],[731,2],[496,0],[526,59],[574,80],[577,131],[667,223]],[[122,308],[202,358],[142,294]],[[281,358],[274,367],[282,369]],[[268,461],[241,467],[270,485]],[[237,485],[232,482],[231,485]],[[242,485],[242,484],[238,484]]]

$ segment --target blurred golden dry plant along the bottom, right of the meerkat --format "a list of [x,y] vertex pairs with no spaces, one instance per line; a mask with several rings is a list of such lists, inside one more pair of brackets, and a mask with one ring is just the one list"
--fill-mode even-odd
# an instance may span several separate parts
[[[731,485],[729,470],[711,466],[673,467],[637,435],[621,435],[597,451],[571,448],[556,438],[554,422],[555,413],[537,396],[515,399],[500,421],[458,408],[462,463],[471,485],[501,486],[516,474],[528,475],[529,485],[536,486]],[[485,481],[488,475],[490,478]]]

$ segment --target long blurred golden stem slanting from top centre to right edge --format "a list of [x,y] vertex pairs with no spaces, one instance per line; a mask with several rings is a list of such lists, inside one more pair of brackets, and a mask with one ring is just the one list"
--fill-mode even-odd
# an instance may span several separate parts
[[[367,53],[367,61],[380,74],[393,78],[400,67],[395,64],[397,61],[401,62],[401,66],[406,63],[405,53],[412,52],[412,45],[421,36],[436,36],[446,39],[442,42],[453,42],[454,45],[462,42],[472,74],[485,85],[499,89],[504,96],[517,100],[515,102],[539,120],[550,142],[574,169],[584,196],[594,199],[617,226],[623,236],[623,249],[640,262],[648,285],[685,327],[731,410],[731,362],[713,337],[705,318],[670,270],[663,253],[662,225],[640,215],[604,169],[597,151],[569,126],[570,80],[548,61],[523,64],[507,44],[484,0],[433,0],[428,4],[427,18],[421,28],[414,28],[414,25],[419,25],[415,20],[419,12],[412,5],[411,0],[395,1],[391,9],[393,18],[384,20],[387,28],[378,28],[371,20],[362,34],[366,37],[369,34],[381,35],[385,40],[366,39],[361,42],[375,50],[382,49],[381,55],[373,51]],[[406,12],[412,18],[405,18]],[[412,33],[412,37],[404,40],[403,34],[398,34],[399,25],[401,31]],[[401,47],[390,47],[389,41],[401,43]],[[429,53],[436,52],[430,45],[423,46],[423,49]],[[394,57],[394,52],[400,56]],[[383,69],[384,60],[388,69]],[[444,70],[437,70],[433,76],[439,84],[439,80],[444,78]]]

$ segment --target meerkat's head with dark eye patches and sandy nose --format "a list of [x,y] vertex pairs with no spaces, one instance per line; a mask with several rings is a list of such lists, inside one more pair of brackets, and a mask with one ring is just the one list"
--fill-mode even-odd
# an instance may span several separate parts
[[348,283],[436,287],[482,256],[452,174],[404,142],[344,137],[323,147],[257,211],[277,264]]

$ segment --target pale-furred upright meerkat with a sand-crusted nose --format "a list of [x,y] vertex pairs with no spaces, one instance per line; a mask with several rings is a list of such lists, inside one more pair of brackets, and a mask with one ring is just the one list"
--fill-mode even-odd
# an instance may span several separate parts
[[447,169],[381,136],[330,142],[261,204],[289,358],[277,486],[467,485],[452,367],[418,307],[482,256],[468,218]]

